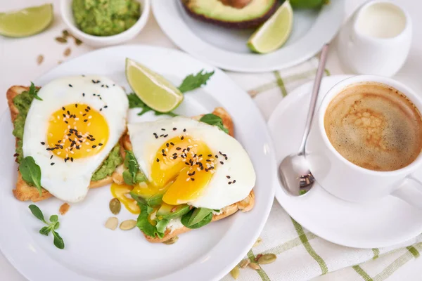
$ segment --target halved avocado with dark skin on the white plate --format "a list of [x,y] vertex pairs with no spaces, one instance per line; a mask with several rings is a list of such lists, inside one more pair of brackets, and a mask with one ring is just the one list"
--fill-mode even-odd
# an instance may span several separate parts
[[277,0],[181,0],[193,18],[229,28],[260,26],[276,11]]

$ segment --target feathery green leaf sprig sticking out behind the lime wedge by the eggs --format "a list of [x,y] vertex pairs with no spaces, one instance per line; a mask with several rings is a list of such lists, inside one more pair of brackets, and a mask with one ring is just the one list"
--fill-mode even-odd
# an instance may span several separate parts
[[[212,77],[213,74],[214,71],[205,72],[205,70],[200,70],[200,72],[197,74],[189,74],[181,82],[179,91],[186,93],[188,91],[198,89],[200,86],[206,85],[207,81]],[[136,95],[136,93],[129,93],[127,95],[127,99],[129,100],[129,108],[141,108],[141,112],[139,112],[138,115],[143,115],[146,112],[153,111],[155,115],[169,115],[171,117],[177,116],[177,114],[173,112],[158,112],[153,110],[151,107],[143,103],[143,101]]]

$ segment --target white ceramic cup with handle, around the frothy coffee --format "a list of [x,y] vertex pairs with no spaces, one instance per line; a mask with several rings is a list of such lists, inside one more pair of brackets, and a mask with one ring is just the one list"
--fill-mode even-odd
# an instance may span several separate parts
[[390,78],[359,75],[340,81],[326,93],[314,117],[306,145],[309,170],[316,181],[328,192],[351,202],[369,202],[393,195],[422,209],[422,183],[412,173],[422,169],[422,153],[414,162],[395,171],[373,171],[364,169],[345,159],[335,150],[326,135],[324,116],[328,104],[345,87],[362,82],[377,82],[392,86],[404,93],[422,112],[422,100],[407,86]]

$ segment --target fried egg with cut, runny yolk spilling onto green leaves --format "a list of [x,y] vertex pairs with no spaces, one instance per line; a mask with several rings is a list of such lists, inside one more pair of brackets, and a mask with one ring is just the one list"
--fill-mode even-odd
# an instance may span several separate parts
[[162,192],[170,205],[221,209],[243,200],[255,171],[242,145],[216,126],[186,117],[128,124],[133,152],[148,183],[141,195]]

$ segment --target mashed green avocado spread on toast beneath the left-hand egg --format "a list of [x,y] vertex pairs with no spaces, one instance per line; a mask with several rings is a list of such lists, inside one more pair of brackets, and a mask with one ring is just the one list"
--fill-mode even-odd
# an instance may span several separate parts
[[[15,107],[18,108],[19,114],[13,122],[13,136],[18,138],[18,143],[16,145],[16,161],[18,163],[21,162],[23,159],[23,129],[25,127],[25,119],[27,117],[28,110],[30,110],[30,106],[32,100],[34,99],[33,96],[30,96],[28,92],[23,92],[18,96],[13,98],[13,104]],[[92,175],[91,181],[99,181],[106,176],[110,176],[115,171],[116,167],[123,163],[123,159],[120,156],[120,145],[117,143],[113,150],[110,151],[110,154],[106,158],[106,160],[101,164],[101,166],[95,171]]]

